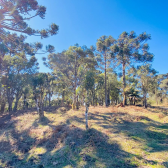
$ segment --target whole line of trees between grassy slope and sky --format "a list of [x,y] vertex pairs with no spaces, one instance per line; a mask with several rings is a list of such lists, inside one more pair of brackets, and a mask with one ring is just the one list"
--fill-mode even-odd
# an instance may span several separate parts
[[[31,15],[32,11],[35,12]],[[0,2],[0,112],[36,107],[40,119],[44,106],[162,102],[168,93],[168,74],[152,68],[154,55],[149,52],[150,34],[123,32],[117,39],[101,36],[90,47],[75,44],[60,53],[52,45],[45,51],[40,42],[27,43],[26,35],[47,38],[56,35],[52,24],[34,30],[26,23],[33,17],[45,17],[46,8],[36,0]],[[21,33],[20,35],[17,33]],[[38,72],[38,52],[51,73]]]

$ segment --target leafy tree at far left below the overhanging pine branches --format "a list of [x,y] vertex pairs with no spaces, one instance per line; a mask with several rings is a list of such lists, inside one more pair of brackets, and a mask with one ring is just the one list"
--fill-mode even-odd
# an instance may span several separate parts
[[17,110],[17,104],[23,93],[23,88],[29,83],[28,76],[37,70],[36,61],[35,57],[31,57],[31,59],[28,60],[24,54],[15,55],[13,57],[6,55],[4,57],[2,64],[2,84],[6,92],[9,112],[12,112],[14,99],[14,111]]

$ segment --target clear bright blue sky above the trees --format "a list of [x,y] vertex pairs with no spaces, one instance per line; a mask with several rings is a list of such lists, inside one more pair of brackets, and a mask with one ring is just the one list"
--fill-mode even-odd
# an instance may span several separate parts
[[[168,1],[152,0],[40,0],[47,7],[45,19],[39,17],[28,22],[33,28],[47,28],[51,23],[59,25],[57,35],[47,39],[28,37],[28,42],[40,41],[55,46],[56,52],[78,43],[90,47],[102,35],[114,38],[123,31],[147,32],[150,52],[155,55],[153,68],[167,73],[168,64]],[[40,62],[40,72],[49,71]]]

